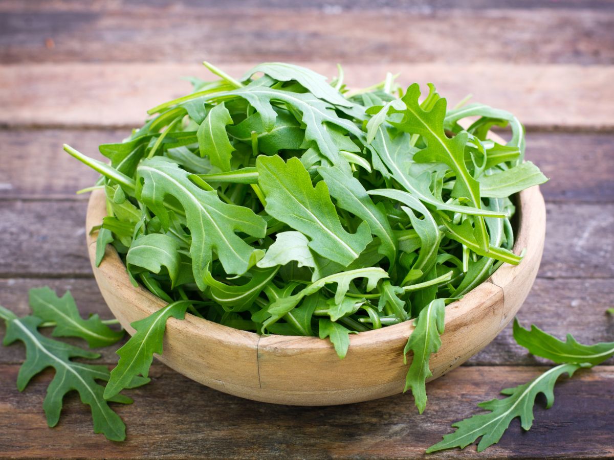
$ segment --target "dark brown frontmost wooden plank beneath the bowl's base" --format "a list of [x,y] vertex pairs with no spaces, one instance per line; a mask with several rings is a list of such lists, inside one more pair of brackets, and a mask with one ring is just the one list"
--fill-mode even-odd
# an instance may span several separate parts
[[[333,407],[290,407],[239,399],[205,388],[163,367],[153,382],[130,391],[134,404],[116,406],[127,440],[95,435],[87,408],[66,398],[60,423],[49,429],[42,400],[50,373],[25,392],[15,389],[17,366],[0,366],[2,456],[82,458],[416,458],[451,432],[453,421],[478,412],[476,403],[537,377],[545,368],[459,367],[429,383],[429,404],[418,415],[410,395]],[[599,458],[614,455],[614,367],[561,377],[549,410],[535,408],[534,426],[511,424],[499,444],[480,457]],[[27,436],[24,434],[27,433]],[[429,459],[475,458],[475,447]]]

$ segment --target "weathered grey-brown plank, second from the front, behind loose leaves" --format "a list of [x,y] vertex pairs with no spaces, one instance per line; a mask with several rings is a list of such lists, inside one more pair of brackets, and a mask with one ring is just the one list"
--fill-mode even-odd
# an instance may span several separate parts
[[[98,286],[91,279],[75,278],[9,278],[0,280],[1,303],[4,307],[23,316],[30,312],[28,307],[28,289],[49,285],[62,295],[69,289],[76,299],[82,316],[98,313],[101,318],[112,318],[111,312],[98,291]],[[614,316],[606,315],[605,310],[612,307],[614,283],[605,279],[556,279],[537,278],[532,291],[518,313],[521,324],[529,327],[536,324],[549,334],[564,339],[567,333],[581,343],[609,342],[614,340]],[[4,324],[0,324],[0,336],[4,335]],[[64,339],[63,339],[64,340]],[[68,339],[66,339],[68,340]],[[80,340],[69,340],[74,345],[83,346]],[[103,356],[101,362],[117,362],[114,347],[98,350]],[[0,364],[16,364],[23,361],[23,347],[15,345],[0,348]],[[511,326],[503,329],[488,347],[473,356],[469,366],[495,366],[519,364],[535,366],[546,361],[536,359],[526,350],[516,345]],[[608,361],[614,364],[614,358]]]

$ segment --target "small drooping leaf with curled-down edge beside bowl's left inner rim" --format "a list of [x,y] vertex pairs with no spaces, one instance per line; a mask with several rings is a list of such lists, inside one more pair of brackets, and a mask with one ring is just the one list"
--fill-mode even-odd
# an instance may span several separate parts
[[181,245],[179,240],[163,233],[141,235],[132,241],[126,254],[126,267],[141,267],[149,272],[160,274],[166,267],[171,283],[175,286],[181,266]]

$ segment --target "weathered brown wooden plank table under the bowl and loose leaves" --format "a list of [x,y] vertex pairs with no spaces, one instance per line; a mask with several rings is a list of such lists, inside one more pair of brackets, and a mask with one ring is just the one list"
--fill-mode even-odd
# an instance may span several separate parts
[[[144,111],[188,90],[178,77],[206,72],[201,59],[239,75],[247,64],[289,60],[348,82],[386,71],[403,83],[437,83],[452,103],[475,101],[516,113],[527,158],[551,181],[546,248],[519,313],[581,342],[614,340],[614,7],[608,0],[403,2],[0,1],[0,302],[23,315],[27,289],[71,289],[82,313],[111,315],[85,249],[87,196],[95,174],[61,151],[90,155],[117,142]],[[229,63],[224,65],[224,63]],[[0,326],[0,335],[4,325]],[[218,393],[161,364],[150,385],[118,407],[128,439],[91,431],[76,395],[49,429],[42,399],[50,372],[23,394],[15,378],[23,348],[0,348],[0,456],[168,458],[408,458],[449,432],[476,402],[536,377],[546,363],[505,329],[464,366],[427,386],[419,416],[410,395],[343,407],[260,404]],[[102,362],[115,362],[114,349]],[[499,444],[445,451],[451,457],[614,456],[614,361],[556,386],[535,424],[518,420]]]

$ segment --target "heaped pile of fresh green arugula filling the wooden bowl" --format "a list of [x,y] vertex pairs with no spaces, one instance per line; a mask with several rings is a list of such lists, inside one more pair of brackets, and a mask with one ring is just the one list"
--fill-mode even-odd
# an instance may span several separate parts
[[[510,196],[546,180],[523,159],[523,126],[486,105],[449,110],[433,85],[421,101],[391,75],[348,91],[341,71],[328,84],[268,63],[238,81],[206,65],[220,78],[193,79],[124,142],[100,146],[110,164],[64,147],[102,174],[96,263],[112,243],[134,285],[169,302],[135,324],[105,397],[147,375],[166,318],[188,310],[328,337],[340,358],[349,334],[414,319],[405,390],[422,412],[445,305],[521,261]],[[489,139],[508,125],[507,144]]]

